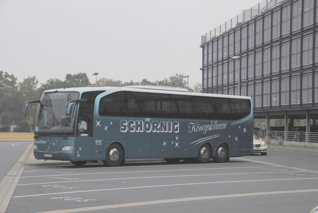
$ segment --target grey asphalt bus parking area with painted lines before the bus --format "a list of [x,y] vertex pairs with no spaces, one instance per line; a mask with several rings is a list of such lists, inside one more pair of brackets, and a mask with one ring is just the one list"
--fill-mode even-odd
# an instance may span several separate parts
[[27,154],[16,169],[21,177],[12,183],[16,186],[6,212],[253,212],[254,205],[258,212],[288,212],[282,203],[295,197],[300,205],[293,212],[310,212],[318,196],[318,172],[244,157],[220,164],[157,159],[77,167],[35,160],[31,150]]

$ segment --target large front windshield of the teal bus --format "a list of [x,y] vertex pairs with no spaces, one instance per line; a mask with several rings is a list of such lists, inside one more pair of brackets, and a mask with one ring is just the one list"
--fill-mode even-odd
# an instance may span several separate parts
[[76,110],[66,115],[66,103],[78,99],[78,92],[44,93],[38,106],[35,135],[74,136]]

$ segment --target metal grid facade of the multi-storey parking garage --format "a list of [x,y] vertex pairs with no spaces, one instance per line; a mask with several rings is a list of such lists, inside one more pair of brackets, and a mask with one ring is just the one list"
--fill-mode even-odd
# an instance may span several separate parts
[[240,95],[251,96],[254,112],[318,106],[317,1],[281,1],[210,40],[203,35],[202,92],[238,95],[240,73]]

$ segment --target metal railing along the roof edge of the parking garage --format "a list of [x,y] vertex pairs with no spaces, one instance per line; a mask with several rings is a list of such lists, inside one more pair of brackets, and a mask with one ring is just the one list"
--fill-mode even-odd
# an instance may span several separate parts
[[255,5],[254,7],[251,7],[248,10],[243,10],[243,13],[237,15],[234,18],[231,18],[230,20],[226,21],[224,24],[202,35],[201,44],[204,44],[205,42],[210,41],[211,39],[221,35],[222,33],[243,24],[251,20],[252,18],[257,17],[260,14],[273,9],[274,7],[286,1],[289,1],[289,0],[264,0],[258,3],[257,5]]

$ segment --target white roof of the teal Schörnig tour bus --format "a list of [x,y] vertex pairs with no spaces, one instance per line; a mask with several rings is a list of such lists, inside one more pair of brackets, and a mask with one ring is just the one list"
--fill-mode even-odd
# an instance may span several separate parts
[[[149,91],[151,90],[151,91]],[[210,93],[194,93],[189,92],[187,89],[179,87],[166,87],[166,86],[153,86],[153,85],[107,85],[107,86],[88,86],[88,87],[75,87],[75,88],[60,88],[45,90],[44,93],[53,92],[90,92],[90,91],[109,91],[111,93],[116,91],[137,91],[137,92],[154,92],[166,93],[176,95],[189,95],[189,96],[206,96],[206,97],[226,97],[226,98],[242,98],[251,99],[249,96],[234,96],[234,95],[219,95]]]

